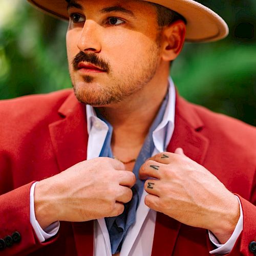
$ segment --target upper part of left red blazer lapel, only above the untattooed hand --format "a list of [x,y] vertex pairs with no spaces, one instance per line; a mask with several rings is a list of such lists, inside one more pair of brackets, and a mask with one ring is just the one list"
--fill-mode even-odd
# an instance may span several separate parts
[[49,125],[50,136],[60,171],[87,159],[85,105],[72,93],[58,110],[62,119]]

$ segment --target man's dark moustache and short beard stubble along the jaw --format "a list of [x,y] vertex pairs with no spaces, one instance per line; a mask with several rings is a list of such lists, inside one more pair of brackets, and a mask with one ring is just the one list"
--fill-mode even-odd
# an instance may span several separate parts
[[80,61],[86,61],[105,70],[105,74],[109,76],[110,82],[108,82],[108,84],[104,84],[103,86],[100,84],[94,86],[94,77],[84,75],[82,77],[82,86],[78,86],[78,84],[76,84],[71,77],[76,98],[85,104],[92,106],[103,106],[119,103],[132,95],[136,97],[136,93],[144,88],[156,74],[159,48],[160,46],[157,42],[157,44],[150,47],[149,51],[144,53],[141,61],[139,61],[138,58],[138,60],[129,68],[127,67],[125,70],[115,74],[110,68],[109,61],[100,58],[95,53],[78,53],[72,62],[72,67],[74,70],[78,69],[77,67]]

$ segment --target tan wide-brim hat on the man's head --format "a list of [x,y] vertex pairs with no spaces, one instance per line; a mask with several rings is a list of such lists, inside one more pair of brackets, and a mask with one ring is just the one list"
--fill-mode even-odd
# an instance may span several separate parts
[[[146,0],[142,0],[146,1]],[[65,0],[28,0],[33,6],[52,16],[68,20]],[[147,2],[165,6],[186,19],[186,41],[217,41],[227,36],[228,26],[224,19],[206,6],[193,0],[150,0]]]

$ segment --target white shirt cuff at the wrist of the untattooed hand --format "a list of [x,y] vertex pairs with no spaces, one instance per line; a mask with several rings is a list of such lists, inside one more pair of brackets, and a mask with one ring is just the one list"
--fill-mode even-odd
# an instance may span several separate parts
[[45,242],[47,239],[55,236],[55,234],[59,230],[59,221],[56,221],[52,223],[50,226],[47,228],[42,229],[41,226],[39,225],[38,221],[35,218],[35,209],[34,209],[34,191],[35,191],[35,185],[37,182],[33,183],[31,188],[30,188],[30,223],[32,227],[35,230],[36,236],[40,242]]

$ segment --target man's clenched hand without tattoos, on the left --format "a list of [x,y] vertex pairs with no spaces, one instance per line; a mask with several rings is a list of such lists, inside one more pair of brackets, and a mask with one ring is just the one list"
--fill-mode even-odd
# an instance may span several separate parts
[[99,157],[77,163],[35,186],[35,215],[42,228],[55,221],[82,222],[120,215],[136,178],[124,164]]

